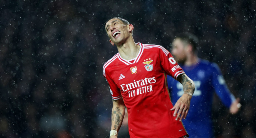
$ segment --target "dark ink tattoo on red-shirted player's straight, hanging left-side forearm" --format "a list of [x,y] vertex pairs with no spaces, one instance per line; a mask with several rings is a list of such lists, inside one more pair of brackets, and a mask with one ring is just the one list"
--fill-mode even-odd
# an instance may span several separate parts
[[122,119],[123,119],[123,114],[121,112],[121,109],[116,107],[112,111],[112,121],[115,122],[114,127],[116,130],[119,130],[119,128],[121,127]]

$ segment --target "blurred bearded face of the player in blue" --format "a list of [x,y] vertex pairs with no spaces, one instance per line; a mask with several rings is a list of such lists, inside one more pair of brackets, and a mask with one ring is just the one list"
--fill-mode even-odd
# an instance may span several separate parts
[[187,59],[186,46],[179,38],[176,38],[172,43],[172,55],[177,62],[184,62]]

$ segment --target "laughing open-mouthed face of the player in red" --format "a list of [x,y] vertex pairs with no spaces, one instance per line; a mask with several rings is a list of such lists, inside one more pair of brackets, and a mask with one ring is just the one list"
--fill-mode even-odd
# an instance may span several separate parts
[[120,19],[113,18],[107,21],[105,30],[112,45],[123,43],[129,36],[129,25],[125,25]]

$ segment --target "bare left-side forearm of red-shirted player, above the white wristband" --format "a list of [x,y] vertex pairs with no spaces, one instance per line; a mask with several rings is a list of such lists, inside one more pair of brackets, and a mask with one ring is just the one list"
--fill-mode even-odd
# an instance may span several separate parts
[[113,105],[112,108],[112,115],[111,115],[111,130],[119,131],[125,113],[125,106],[124,105]]

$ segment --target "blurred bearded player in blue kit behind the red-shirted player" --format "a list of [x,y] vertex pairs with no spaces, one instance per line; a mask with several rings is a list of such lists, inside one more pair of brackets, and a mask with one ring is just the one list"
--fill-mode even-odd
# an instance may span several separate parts
[[[241,104],[227,88],[225,80],[216,63],[198,58],[197,38],[192,34],[177,36],[172,43],[172,54],[181,68],[194,81],[195,91],[189,113],[183,124],[192,138],[213,137],[211,106],[214,92],[230,113],[238,112]],[[183,86],[171,76],[167,77],[172,101],[177,101],[183,92]]]

